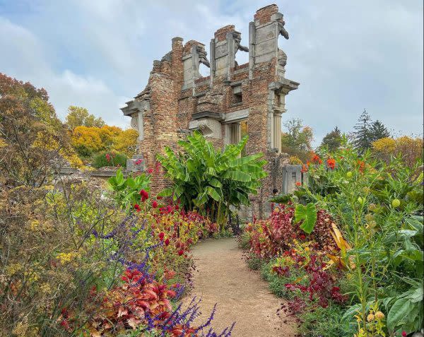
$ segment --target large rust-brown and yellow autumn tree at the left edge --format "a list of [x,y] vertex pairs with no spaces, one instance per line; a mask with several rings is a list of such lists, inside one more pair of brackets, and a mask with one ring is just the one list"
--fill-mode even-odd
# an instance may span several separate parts
[[[37,187],[63,160],[81,165],[46,90],[0,73],[0,176]],[[13,178],[13,179],[12,179]]]

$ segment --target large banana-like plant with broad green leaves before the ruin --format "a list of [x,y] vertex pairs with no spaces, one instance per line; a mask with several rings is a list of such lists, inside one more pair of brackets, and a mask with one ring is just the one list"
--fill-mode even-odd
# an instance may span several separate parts
[[183,152],[169,147],[158,160],[172,179],[172,187],[160,192],[179,200],[187,211],[197,209],[224,225],[230,206],[249,205],[249,194],[257,194],[260,179],[266,177],[262,153],[241,156],[247,136],[238,144],[217,150],[199,131],[179,141]]

